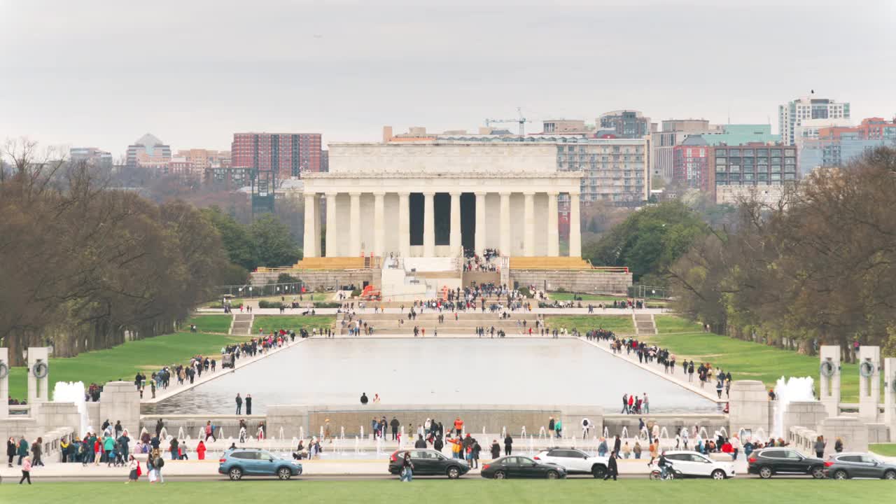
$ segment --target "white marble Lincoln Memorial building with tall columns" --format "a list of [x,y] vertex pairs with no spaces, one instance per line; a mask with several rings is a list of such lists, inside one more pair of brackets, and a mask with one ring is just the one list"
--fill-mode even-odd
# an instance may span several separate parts
[[326,257],[556,257],[567,195],[579,257],[581,177],[556,169],[553,144],[331,143],[330,171],[304,175],[305,256],[324,256],[326,222]]

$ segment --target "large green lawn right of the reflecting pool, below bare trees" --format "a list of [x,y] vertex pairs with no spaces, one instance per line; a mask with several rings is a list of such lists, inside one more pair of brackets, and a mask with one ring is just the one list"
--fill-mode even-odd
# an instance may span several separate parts
[[[694,359],[695,364],[710,362],[714,368],[731,371],[732,378],[736,380],[758,379],[766,387],[774,387],[781,376],[812,377],[816,387],[818,384],[818,357],[702,332],[655,335],[649,339],[675,353],[679,362],[683,358]],[[841,372],[842,402],[857,403],[857,365],[844,363]],[[815,395],[818,395],[817,390]]]

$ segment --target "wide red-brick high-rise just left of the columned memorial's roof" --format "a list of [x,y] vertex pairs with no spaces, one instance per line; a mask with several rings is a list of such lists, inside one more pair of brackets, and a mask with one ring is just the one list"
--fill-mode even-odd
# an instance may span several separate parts
[[303,171],[321,171],[319,133],[235,133],[231,166],[273,171],[277,179],[301,177]]

